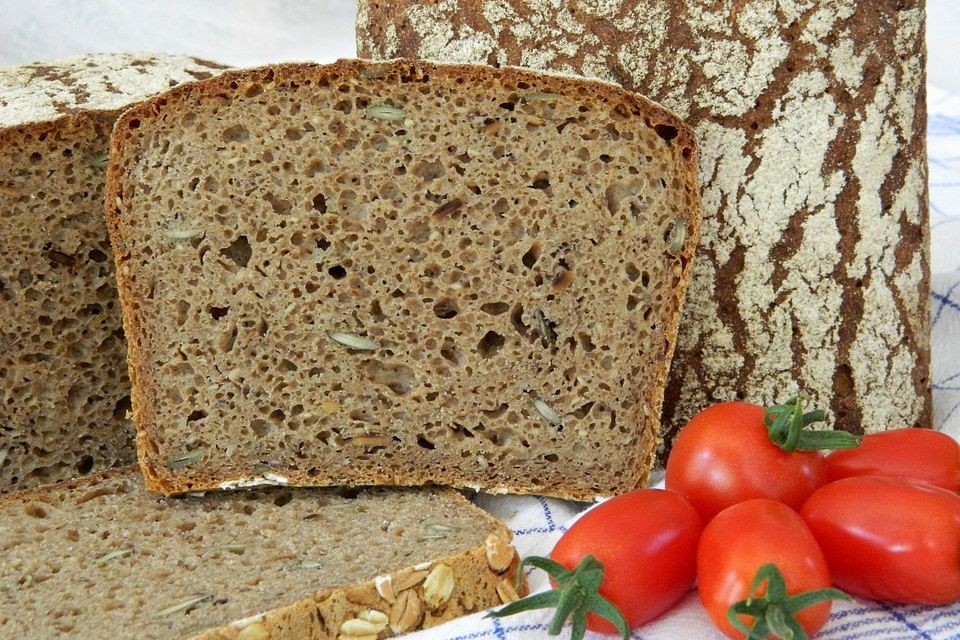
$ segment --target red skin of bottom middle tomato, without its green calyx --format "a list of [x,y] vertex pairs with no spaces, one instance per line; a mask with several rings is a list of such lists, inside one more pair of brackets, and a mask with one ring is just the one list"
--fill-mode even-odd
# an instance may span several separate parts
[[[750,595],[757,571],[772,563],[783,573],[787,593],[830,586],[823,552],[803,519],[790,507],[765,498],[741,502],[717,515],[703,530],[697,550],[700,601],[713,623],[730,638],[744,634],[727,620],[727,610]],[[830,616],[831,603],[803,609],[797,620],[808,635]],[[753,620],[741,617],[747,626]]]

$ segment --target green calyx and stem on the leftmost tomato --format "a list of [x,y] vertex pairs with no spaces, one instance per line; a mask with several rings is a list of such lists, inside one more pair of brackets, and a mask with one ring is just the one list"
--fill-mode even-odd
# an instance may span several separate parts
[[526,565],[545,571],[553,578],[557,588],[511,602],[488,613],[488,618],[503,618],[534,609],[556,608],[547,633],[551,636],[559,635],[563,625],[570,619],[570,640],[582,640],[587,629],[587,614],[595,613],[613,623],[623,640],[628,640],[630,626],[623,614],[599,593],[600,583],[603,582],[603,565],[599,560],[593,556],[585,556],[580,564],[570,570],[549,558],[528,556],[521,560],[517,567],[517,588],[523,580],[523,569]]

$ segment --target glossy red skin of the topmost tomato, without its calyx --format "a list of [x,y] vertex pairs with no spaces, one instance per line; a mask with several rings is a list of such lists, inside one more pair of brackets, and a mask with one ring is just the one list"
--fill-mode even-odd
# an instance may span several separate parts
[[782,451],[763,424],[764,408],[723,402],[683,428],[667,459],[666,486],[704,521],[738,502],[770,498],[794,509],[826,482],[819,451]]

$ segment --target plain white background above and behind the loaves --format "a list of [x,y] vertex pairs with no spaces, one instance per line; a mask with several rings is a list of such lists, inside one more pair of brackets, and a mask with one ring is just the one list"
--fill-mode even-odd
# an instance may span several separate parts
[[[960,93],[960,0],[927,6],[930,84]],[[122,50],[236,66],[328,62],[354,55],[355,7],[354,0],[0,0],[0,66]]]

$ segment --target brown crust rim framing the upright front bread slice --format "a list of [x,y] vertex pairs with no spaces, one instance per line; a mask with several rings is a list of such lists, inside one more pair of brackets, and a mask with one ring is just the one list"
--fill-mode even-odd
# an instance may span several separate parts
[[[276,475],[265,477],[262,472],[255,471],[252,468],[238,475],[236,472],[218,471],[215,466],[196,470],[188,469],[186,472],[173,471],[165,467],[165,457],[159,453],[156,444],[159,428],[155,421],[157,409],[154,405],[157,402],[156,398],[160,397],[159,390],[163,387],[163,382],[156,377],[158,374],[145,364],[148,354],[142,351],[146,336],[144,318],[138,308],[139,294],[136,292],[132,280],[136,275],[136,269],[132,264],[128,264],[130,256],[126,249],[127,240],[131,233],[127,227],[126,218],[131,215],[131,212],[126,210],[127,205],[122,197],[125,189],[129,187],[124,182],[125,176],[122,167],[130,163],[132,154],[136,153],[136,147],[133,144],[125,143],[126,138],[123,132],[130,128],[131,123],[135,123],[139,128],[142,123],[148,123],[151,119],[161,117],[164,113],[174,112],[179,108],[189,108],[191,102],[201,96],[229,95],[237,91],[237,87],[249,85],[251,82],[260,84],[280,83],[302,81],[307,78],[319,82],[338,77],[350,78],[367,70],[377,74],[429,75],[432,82],[457,81],[464,78],[482,79],[492,75],[507,80],[535,81],[536,86],[546,87],[556,93],[574,93],[578,90],[589,89],[593,96],[591,99],[621,104],[623,105],[622,108],[647,118],[651,127],[660,124],[671,128],[676,135],[675,143],[672,144],[672,153],[676,163],[683,167],[679,179],[688,194],[686,196],[687,211],[683,212],[687,221],[687,235],[678,251],[678,266],[673,279],[675,288],[672,292],[672,302],[677,308],[681,305],[700,232],[698,187],[695,176],[696,146],[691,131],[681,120],[667,109],[645,98],[624,92],[608,83],[558,75],[536,74],[521,69],[494,70],[488,67],[439,65],[409,61],[394,61],[378,65],[350,60],[342,60],[326,66],[276,65],[262,69],[227,72],[212,80],[178,87],[138,105],[126,112],[118,121],[112,141],[106,197],[108,203],[106,217],[114,246],[117,248],[118,280],[121,300],[124,304],[125,329],[129,338],[130,375],[134,386],[133,415],[134,421],[138,425],[137,444],[148,486],[164,493],[179,493],[203,489],[231,488],[250,482],[290,485],[335,485],[342,483],[420,485],[443,482],[457,486],[479,486],[494,492],[535,492],[579,499],[596,497],[597,493],[585,489],[583,481],[579,478],[572,478],[569,482],[559,482],[546,487],[523,483],[501,484],[495,481],[465,480],[458,478],[455,469],[447,469],[446,473],[449,476],[438,480],[434,472],[425,468],[417,468],[415,465],[402,470],[391,470],[389,474],[370,474],[359,478],[331,474],[324,469],[312,469],[308,472],[304,469],[285,468],[278,470]],[[136,215],[136,212],[132,213]],[[637,471],[635,474],[624,474],[623,478],[618,479],[618,486],[605,490],[604,495],[626,491],[643,485],[647,481],[654,451],[659,442],[657,435],[659,422],[656,416],[659,414],[658,408],[662,402],[663,382],[669,365],[670,352],[676,339],[677,316],[678,314],[675,314],[674,317],[666,319],[665,326],[662,328],[666,338],[667,352],[664,354],[665,357],[662,361],[658,361],[655,378],[643,381],[646,383],[643,386],[645,395],[642,403],[645,408],[643,413],[638,411],[638,415],[642,415],[642,418],[639,419],[641,424],[636,427],[638,431],[637,446],[635,450],[624,452],[624,455],[629,456],[630,460],[636,461]]]

